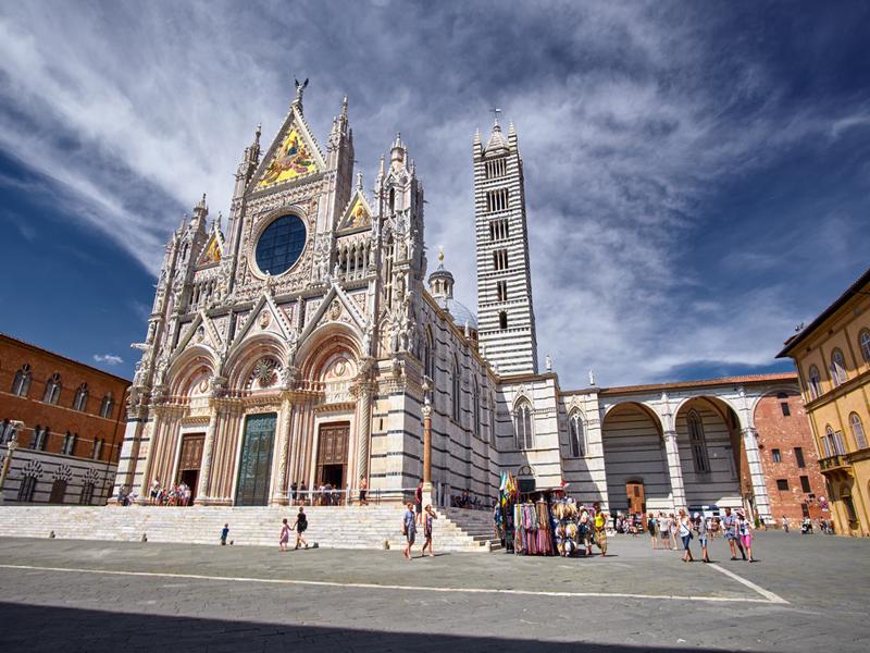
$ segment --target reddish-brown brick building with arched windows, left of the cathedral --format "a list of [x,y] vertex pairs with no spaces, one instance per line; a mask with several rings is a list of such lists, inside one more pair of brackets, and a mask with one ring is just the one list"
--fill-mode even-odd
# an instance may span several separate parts
[[5,503],[104,504],[129,381],[0,334],[0,456],[17,440]]

